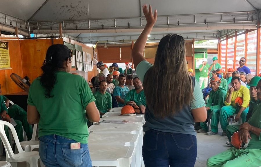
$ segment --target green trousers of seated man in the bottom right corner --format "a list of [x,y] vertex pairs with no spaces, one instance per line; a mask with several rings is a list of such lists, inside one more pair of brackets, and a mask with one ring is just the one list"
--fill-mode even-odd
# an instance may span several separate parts
[[235,147],[207,160],[208,167],[258,167],[261,164],[260,149],[237,149]]

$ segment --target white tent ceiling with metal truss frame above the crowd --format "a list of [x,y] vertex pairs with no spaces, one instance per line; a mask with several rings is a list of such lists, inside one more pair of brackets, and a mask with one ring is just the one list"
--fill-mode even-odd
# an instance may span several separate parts
[[0,29],[51,34],[62,23],[63,33],[84,43],[135,40],[146,24],[144,3],[158,11],[152,40],[171,32],[213,39],[220,30],[256,28],[261,9],[260,0],[4,0]]

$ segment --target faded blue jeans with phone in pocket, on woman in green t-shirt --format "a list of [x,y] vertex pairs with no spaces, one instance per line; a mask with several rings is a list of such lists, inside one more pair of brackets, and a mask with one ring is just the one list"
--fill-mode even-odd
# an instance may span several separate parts
[[71,150],[71,143],[77,141],[58,135],[39,137],[39,155],[44,165],[46,167],[91,167],[88,144],[81,143],[80,149]]

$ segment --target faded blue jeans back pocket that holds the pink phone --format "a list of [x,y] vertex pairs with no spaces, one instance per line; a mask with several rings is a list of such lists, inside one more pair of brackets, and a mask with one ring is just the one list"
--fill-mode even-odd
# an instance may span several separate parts
[[80,166],[83,162],[82,160],[82,148],[72,150],[69,148],[63,148],[64,160],[67,164],[73,167]]

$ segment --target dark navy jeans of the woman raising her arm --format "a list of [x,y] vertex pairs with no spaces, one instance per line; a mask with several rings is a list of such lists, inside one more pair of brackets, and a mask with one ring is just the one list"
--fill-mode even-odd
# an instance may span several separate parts
[[146,167],[193,167],[197,158],[197,138],[148,130],[143,137],[142,157]]

